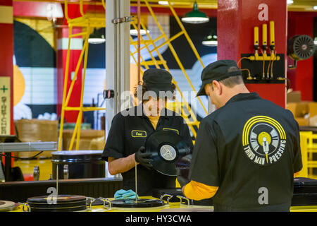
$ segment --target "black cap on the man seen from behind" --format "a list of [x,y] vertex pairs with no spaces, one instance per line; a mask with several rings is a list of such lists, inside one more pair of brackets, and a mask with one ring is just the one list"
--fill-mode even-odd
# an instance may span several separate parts
[[219,60],[206,66],[201,72],[201,88],[197,93],[197,97],[206,95],[205,85],[212,83],[213,80],[222,81],[232,76],[242,76],[237,63],[233,60]]

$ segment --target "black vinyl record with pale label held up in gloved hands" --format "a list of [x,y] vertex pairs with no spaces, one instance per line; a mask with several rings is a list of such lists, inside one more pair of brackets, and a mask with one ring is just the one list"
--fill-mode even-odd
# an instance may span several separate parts
[[145,141],[145,149],[152,153],[153,169],[168,176],[176,176],[176,163],[190,153],[189,145],[173,131],[151,133]]

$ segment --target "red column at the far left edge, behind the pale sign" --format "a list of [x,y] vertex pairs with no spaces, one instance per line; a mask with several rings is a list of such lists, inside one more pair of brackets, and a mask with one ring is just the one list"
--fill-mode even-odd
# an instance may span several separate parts
[[[10,117],[6,123],[10,124],[10,131],[6,134],[14,134],[13,122],[13,1],[0,1],[0,76],[10,78],[10,99],[8,107]],[[1,85],[1,84],[0,84]],[[1,85],[2,87],[3,85]],[[0,131],[1,133],[1,131]],[[3,133],[1,133],[3,134]]]

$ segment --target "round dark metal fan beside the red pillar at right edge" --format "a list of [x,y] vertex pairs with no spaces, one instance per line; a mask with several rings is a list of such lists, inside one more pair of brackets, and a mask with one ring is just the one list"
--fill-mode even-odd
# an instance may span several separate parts
[[296,68],[296,62],[304,59],[309,59],[315,52],[315,44],[313,39],[308,35],[295,35],[287,42],[287,55],[294,60],[295,66],[290,68]]

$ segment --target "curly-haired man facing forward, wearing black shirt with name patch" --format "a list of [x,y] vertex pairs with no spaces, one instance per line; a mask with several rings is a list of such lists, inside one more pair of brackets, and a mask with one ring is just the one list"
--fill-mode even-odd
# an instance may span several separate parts
[[191,151],[193,144],[184,119],[166,109],[168,98],[175,98],[171,74],[163,69],[148,69],[144,71],[143,84],[137,88],[135,96],[142,104],[113,117],[101,157],[108,161],[110,174],[122,174],[123,190],[135,191],[137,163],[137,195],[148,196],[153,189],[175,187],[176,177],[151,169],[151,153],[145,153],[144,148],[147,137],[154,131],[168,130],[182,136]]

